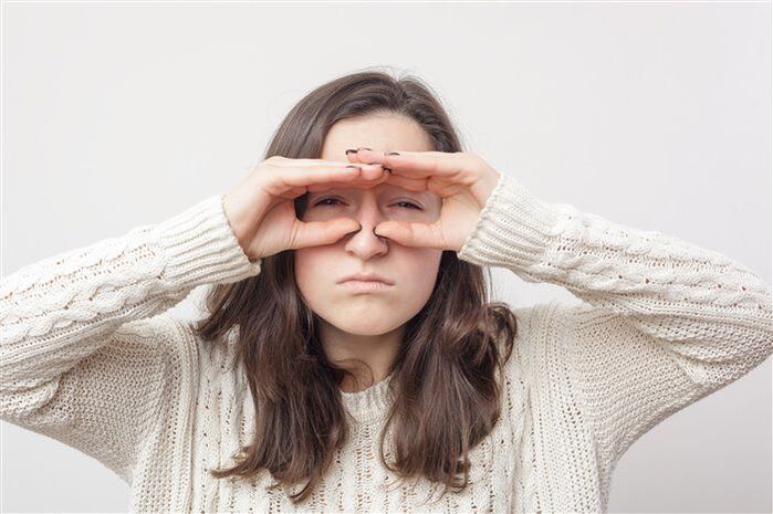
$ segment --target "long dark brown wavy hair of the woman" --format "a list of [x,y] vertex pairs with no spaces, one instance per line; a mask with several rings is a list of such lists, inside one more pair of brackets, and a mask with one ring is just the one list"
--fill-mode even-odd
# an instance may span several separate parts
[[[420,78],[361,71],[302,98],[276,130],[265,158],[321,158],[336,122],[388,113],[416,120],[435,150],[461,151],[447,113]],[[295,200],[299,219],[307,195]],[[252,478],[267,470],[276,480],[270,489],[304,481],[290,496],[297,504],[312,494],[349,436],[338,386],[354,374],[325,355],[315,329],[318,318],[303,302],[294,262],[294,251],[288,250],[263,259],[254,276],[215,285],[206,298],[208,317],[194,329],[211,342],[211,352],[238,326],[237,359],[255,410],[251,444],[234,455],[234,466],[210,473]],[[442,484],[443,494],[467,487],[469,452],[500,418],[503,385],[494,371],[503,375],[516,335],[508,305],[487,303],[483,279],[482,268],[443,251],[432,294],[407,322],[389,370],[394,376],[387,394],[394,401],[379,437],[380,461],[401,479],[425,476]],[[394,462],[384,457],[390,426]]]

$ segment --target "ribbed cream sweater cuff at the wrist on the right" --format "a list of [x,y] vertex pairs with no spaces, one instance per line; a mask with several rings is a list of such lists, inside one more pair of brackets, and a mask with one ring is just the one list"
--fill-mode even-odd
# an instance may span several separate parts
[[560,209],[534,197],[513,177],[499,182],[457,256],[479,265],[526,269],[543,258]]

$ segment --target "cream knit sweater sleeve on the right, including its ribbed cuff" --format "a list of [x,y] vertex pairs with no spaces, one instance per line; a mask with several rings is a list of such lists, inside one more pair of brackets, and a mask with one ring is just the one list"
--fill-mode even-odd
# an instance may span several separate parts
[[564,327],[560,358],[544,366],[582,398],[603,473],[655,424],[773,353],[771,291],[748,268],[544,202],[508,175],[458,256],[583,301],[554,311]]

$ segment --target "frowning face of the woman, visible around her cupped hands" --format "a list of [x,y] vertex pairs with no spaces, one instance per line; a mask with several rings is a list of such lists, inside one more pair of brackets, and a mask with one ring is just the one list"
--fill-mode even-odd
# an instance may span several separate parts
[[[412,119],[382,115],[336,123],[321,158],[346,162],[346,149],[358,146],[377,151],[433,149]],[[380,335],[404,325],[429,300],[442,251],[401,246],[373,230],[387,220],[431,223],[438,220],[440,206],[435,193],[388,182],[310,192],[303,221],[349,217],[359,221],[362,230],[333,244],[295,250],[295,280],[306,305],[324,322],[353,335]],[[357,292],[338,283],[354,273],[376,273],[394,285]]]

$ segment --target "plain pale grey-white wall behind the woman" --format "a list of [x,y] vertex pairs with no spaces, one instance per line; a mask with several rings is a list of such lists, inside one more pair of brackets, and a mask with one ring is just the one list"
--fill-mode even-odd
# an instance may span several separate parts
[[[658,230],[771,283],[771,4],[2,6],[2,274],[234,188],[289,108],[419,75],[466,150],[550,202]],[[578,300],[494,269],[516,305]],[[200,289],[175,307],[196,315]],[[198,296],[197,296],[198,294]],[[121,512],[97,461],[1,423],[3,512]],[[771,512],[771,360],[617,465],[610,512]]]

